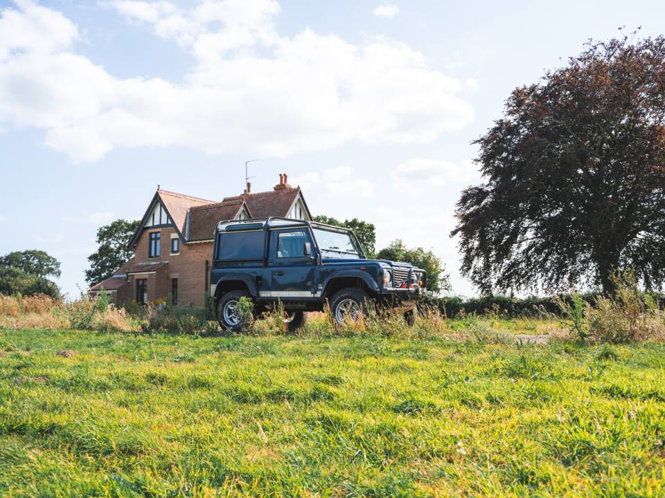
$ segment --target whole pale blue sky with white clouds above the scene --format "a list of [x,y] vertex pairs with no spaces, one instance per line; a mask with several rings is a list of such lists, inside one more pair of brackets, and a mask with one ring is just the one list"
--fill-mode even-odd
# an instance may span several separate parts
[[[588,39],[663,32],[662,1],[0,0],[0,255],[42,249],[68,297],[96,230],[157,185],[204,199],[278,174],[459,274],[454,206],[517,86]],[[623,28],[623,32],[619,29]]]

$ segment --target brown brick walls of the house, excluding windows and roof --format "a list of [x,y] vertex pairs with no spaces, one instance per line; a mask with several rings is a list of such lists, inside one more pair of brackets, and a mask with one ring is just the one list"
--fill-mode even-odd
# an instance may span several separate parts
[[[150,233],[160,232],[159,257],[150,258]],[[134,263],[148,261],[168,261],[168,266],[158,268],[157,273],[150,275],[131,275],[130,299],[136,299],[136,278],[148,278],[148,300],[166,298],[171,291],[171,279],[178,279],[178,304],[204,306],[206,292],[206,260],[211,261],[213,255],[212,242],[185,244],[180,240],[180,252],[171,254],[171,236],[177,235],[173,227],[145,228],[134,248]]]

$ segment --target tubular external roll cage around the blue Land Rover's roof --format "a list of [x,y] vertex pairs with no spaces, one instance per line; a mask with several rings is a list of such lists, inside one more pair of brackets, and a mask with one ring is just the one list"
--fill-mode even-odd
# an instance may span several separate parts
[[[235,228],[236,226],[238,228]],[[245,226],[244,229],[242,228],[243,226]],[[220,261],[219,259],[217,259],[216,249],[217,249],[217,235],[222,232],[243,232],[249,230],[264,230],[265,232],[268,232],[269,230],[282,230],[284,228],[305,228],[305,227],[309,228],[310,230],[312,230],[312,228],[322,228],[323,230],[328,230],[329,232],[350,234],[351,237],[353,237],[353,241],[355,241],[358,250],[360,250],[360,252],[358,253],[358,257],[360,257],[361,259],[366,258],[364,250],[360,245],[360,239],[358,239],[357,235],[353,232],[353,230],[349,230],[348,228],[338,227],[335,225],[328,225],[328,223],[319,223],[318,221],[299,220],[299,219],[285,218],[283,216],[267,216],[265,218],[249,218],[244,220],[224,220],[217,223],[217,225],[215,226],[215,252],[213,254],[213,261]],[[231,230],[229,230],[229,228],[231,228]],[[312,232],[314,247],[317,249],[318,252],[321,252],[321,249],[319,248],[319,243],[317,242],[317,238],[313,236],[314,233]],[[264,248],[263,248],[264,261],[267,261],[268,257],[267,245],[268,245],[268,237],[265,237]]]

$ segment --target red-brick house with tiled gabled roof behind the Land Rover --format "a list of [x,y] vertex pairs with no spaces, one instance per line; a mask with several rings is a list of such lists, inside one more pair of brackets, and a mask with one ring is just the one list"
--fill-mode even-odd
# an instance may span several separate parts
[[219,221],[286,216],[311,219],[300,187],[279,183],[269,192],[251,192],[221,202],[168,192],[157,188],[145,210],[130,248],[134,257],[116,273],[90,288],[98,295],[102,287],[115,304],[141,304],[166,299],[177,304],[203,306],[209,291],[209,269],[213,257],[213,234]]

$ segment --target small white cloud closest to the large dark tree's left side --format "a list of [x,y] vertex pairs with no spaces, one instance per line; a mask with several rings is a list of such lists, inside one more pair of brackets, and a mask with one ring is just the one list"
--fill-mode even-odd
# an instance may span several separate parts
[[472,161],[458,164],[445,160],[416,158],[396,167],[391,178],[396,188],[420,192],[450,183],[477,183],[481,176]]

